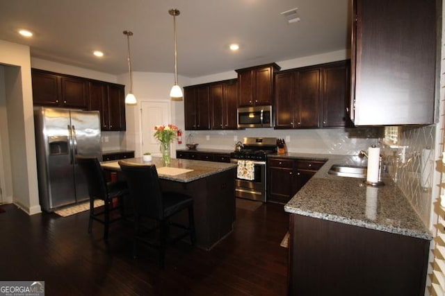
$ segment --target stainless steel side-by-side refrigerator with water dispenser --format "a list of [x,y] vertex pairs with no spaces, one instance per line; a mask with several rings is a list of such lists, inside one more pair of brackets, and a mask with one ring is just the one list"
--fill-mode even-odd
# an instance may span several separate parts
[[44,211],[88,199],[76,155],[102,160],[98,111],[34,107],[40,206]]

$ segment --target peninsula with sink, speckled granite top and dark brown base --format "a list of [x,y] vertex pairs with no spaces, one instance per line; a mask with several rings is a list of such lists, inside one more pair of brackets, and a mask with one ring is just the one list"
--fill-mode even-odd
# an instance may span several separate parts
[[372,187],[327,173],[356,157],[318,158],[329,160],[284,207],[289,295],[423,295],[432,236],[403,192],[389,177]]

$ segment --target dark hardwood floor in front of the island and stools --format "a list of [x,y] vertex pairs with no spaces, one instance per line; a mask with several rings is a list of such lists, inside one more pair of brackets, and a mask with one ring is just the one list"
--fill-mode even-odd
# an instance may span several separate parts
[[280,204],[236,209],[234,231],[209,252],[179,242],[132,257],[129,222],[103,228],[88,211],[28,216],[13,204],[0,214],[0,280],[41,280],[46,295],[286,295],[289,216]]

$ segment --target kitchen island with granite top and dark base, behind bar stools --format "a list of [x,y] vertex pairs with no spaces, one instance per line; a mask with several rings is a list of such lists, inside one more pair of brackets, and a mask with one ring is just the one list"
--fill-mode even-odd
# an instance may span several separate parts
[[[184,193],[193,198],[197,247],[210,250],[232,232],[236,164],[172,159],[171,164],[165,166],[160,157],[153,157],[152,162],[143,162],[142,158],[124,162],[156,165],[163,191]],[[101,165],[104,170],[120,171],[118,162],[102,162]],[[175,218],[187,221],[186,213]]]

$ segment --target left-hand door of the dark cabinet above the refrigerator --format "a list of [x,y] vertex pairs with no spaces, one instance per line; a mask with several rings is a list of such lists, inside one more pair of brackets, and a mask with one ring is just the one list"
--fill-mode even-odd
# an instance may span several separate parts
[[59,104],[58,76],[32,69],[33,103],[56,106]]

